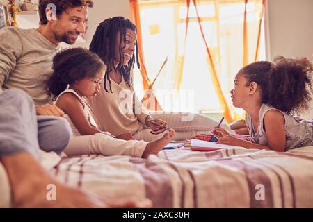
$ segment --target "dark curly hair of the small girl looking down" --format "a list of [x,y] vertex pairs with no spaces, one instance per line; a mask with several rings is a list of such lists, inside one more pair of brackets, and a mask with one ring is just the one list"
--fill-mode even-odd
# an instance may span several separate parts
[[53,74],[47,81],[47,92],[56,100],[67,85],[83,78],[95,78],[104,70],[104,62],[97,54],[83,48],[65,49],[54,56]]

